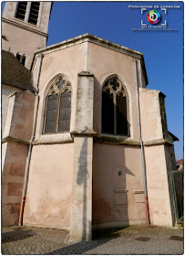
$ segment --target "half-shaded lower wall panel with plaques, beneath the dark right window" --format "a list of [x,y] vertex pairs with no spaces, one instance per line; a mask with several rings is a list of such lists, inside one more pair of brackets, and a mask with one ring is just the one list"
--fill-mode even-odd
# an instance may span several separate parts
[[93,155],[93,227],[145,223],[140,148],[94,144]]

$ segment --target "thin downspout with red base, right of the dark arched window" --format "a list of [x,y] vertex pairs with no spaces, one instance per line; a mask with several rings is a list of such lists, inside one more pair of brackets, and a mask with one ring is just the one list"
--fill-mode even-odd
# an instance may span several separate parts
[[147,224],[149,225],[150,221],[149,221],[149,201],[148,201],[148,192],[147,192],[146,162],[145,162],[143,141],[142,141],[141,129],[140,129],[141,126],[140,126],[140,110],[139,110],[139,85],[138,85],[138,77],[137,77],[136,58],[134,58],[134,62],[135,62],[135,81],[136,81],[139,142],[140,142],[140,146],[141,146],[142,174],[143,174],[143,186],[144,186],[144,197],[145,197],[145,211],[146,211],[146,221],[147,221]]

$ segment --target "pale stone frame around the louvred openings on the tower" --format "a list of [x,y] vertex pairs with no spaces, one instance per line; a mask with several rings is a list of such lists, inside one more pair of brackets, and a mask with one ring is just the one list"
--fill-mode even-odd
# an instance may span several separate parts
[[40,6],[39,6],[39,12],[38,12],[38,18],[37,18],[37,23],[36,23],[36,25],[28,22],[29,14],[30,14],[30,8],[31,8],[31,3],[32,3],[32,2],[25,1],[25,2],[27,2],[27,5],[26,5],[26,15],[25,15],[25,19],[24,19],[24,20],[22,20],[22,19],[16,17],[16,12],[17,12],[17,8],[18,8],[19,2],[20,2],[20,1],[15,2],[15,14],[14,14],[14,18],[15,18],[16,20],[20,21],[20,22],[26,23],[27,25],[30,25],[30,26],[33,26],[33,27],[40,27],[41,16],[42,16],[42,10],[43,10],[44,2],[37,1],[37,2],[40,3]]

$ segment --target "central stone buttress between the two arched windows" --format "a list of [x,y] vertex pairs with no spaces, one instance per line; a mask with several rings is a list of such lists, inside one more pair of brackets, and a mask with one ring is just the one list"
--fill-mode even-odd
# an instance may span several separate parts
[[94,75],[79,73],[70,240],[92,239],[93,94]]

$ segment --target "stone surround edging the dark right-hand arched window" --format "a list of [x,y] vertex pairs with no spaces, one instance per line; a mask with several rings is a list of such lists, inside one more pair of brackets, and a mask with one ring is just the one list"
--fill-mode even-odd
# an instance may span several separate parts
[[[115,131],[114,131],[114,134],[113,133],[103,133],[102,132],[102,123],[103,123],[103,119],[102,119],[102,109],[103,109],[103,102],[102,102],[102,93],[104,91],[104,87],[105,87],[105,84],[107,83],[108,80],[112,80],[112,79],[118,79],[120,82],[121,82],[121,85],[124,89],[124,92],[125,92],[125,95],[126,95],[126,99],[127,99],[127,121],[128,121],[128,135],[126,134],[115,134]],[[123,82],[123,80],[118,76],[118,74],[111,74],[107,77],[106,80],[104,80],[104,82],[102,83],[102,91],[101,91],[101,136],[108,136],[108,137],[120,137],[120,138],[131,138],[132,137],[132,130],[131,130],[131,125],[130,125],[130,93],[128,91],[128,85],[127,85],[127,88],[126,88],[126,85],[127,84],[126,82]],[[114,117],[115,118],[115,117]],[[114,120],[114,123],[115,123],[115,120]],[[115,130],[115,128],[114,128]]]

